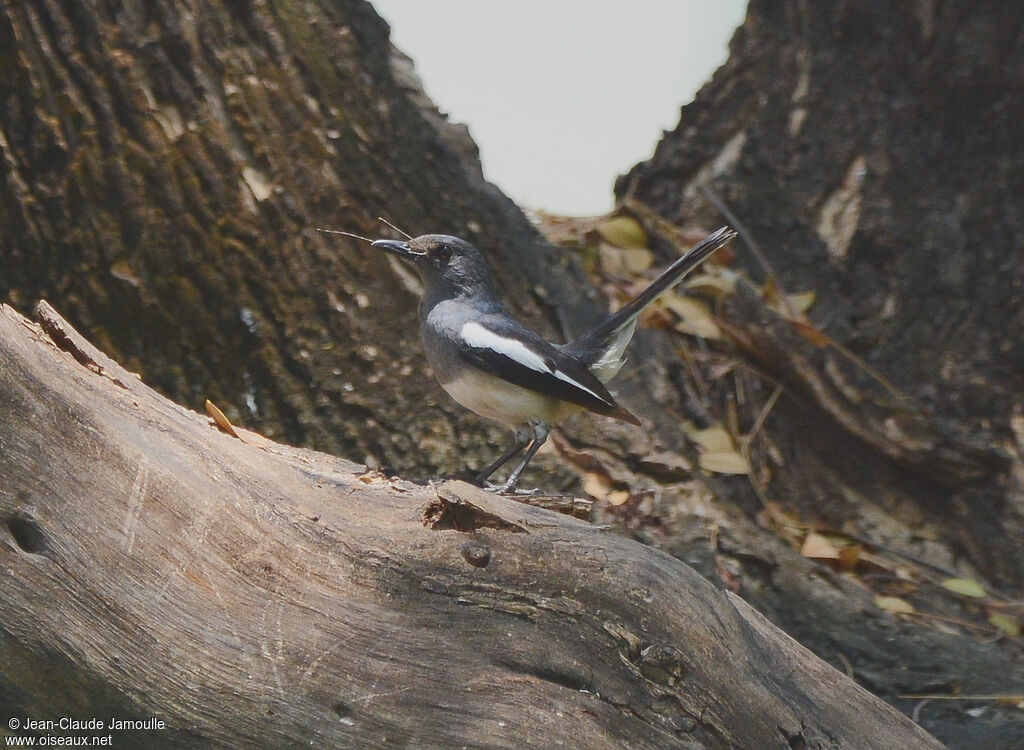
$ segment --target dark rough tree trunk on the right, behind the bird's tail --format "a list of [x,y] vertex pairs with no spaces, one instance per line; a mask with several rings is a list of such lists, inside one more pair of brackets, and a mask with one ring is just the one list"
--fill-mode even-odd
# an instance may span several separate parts
[[[1018,592],[1022,30],[1020,6],[755,0],[726,66],[617,185],[673,220],[721,201],[767,256],[743,267],[816,292],[813,323],[866,364],[746,341],[799,397],[766,425],[786,457],[767,494],[834,527],[937,537]],[[749,306],[729,312],[749,326]]]

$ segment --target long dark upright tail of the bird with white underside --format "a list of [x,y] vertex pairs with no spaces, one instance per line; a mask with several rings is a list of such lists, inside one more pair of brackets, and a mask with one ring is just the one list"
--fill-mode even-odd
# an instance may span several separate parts
[[603,323],[565,344],[568,353],[588,363],[602,382],[607,382],[623,366],[623,352],[633,338],[637,316],[662,292],[678,284],[687,273],[703,262],[713,252],[728,243],[736,233],[728,226],[708,235],[693,248],[666,268],[646,289],[608,316]]

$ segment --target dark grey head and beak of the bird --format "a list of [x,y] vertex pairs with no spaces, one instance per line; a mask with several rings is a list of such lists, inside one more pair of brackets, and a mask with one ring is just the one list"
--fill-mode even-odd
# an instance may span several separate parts
[[423,235],[412,240],[377,240],[373,247],[413,263],[434,301],[493,293],[483,255],[465,240]]

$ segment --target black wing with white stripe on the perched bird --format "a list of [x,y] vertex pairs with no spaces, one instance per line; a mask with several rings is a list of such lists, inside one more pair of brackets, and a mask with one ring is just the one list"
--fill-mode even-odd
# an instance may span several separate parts
[[509,318],[486,316],[466,322],[457,338],[460,356],[480,370],[519,387],[640,424],[615,404],[586,366]]

